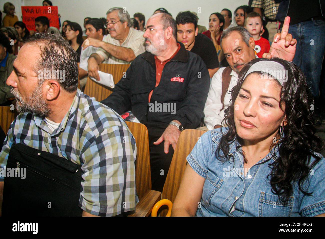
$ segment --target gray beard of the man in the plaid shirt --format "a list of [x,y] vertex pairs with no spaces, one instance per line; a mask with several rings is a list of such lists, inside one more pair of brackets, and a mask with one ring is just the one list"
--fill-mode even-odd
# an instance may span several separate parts
[[33,93],[26,100],[22,99],[18,90],[11,89],[11,93],[17,98],[16,109],[19,113],[33,113],[41,117],[46,117],[51,113],[51,109],[42,97],[42,85],[36,86]]

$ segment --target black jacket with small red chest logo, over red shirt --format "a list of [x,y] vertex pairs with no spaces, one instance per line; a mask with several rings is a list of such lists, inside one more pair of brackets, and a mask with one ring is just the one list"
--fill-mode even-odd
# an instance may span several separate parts
[[[115,85],[113,93],[102,103],[119,114],[132,111],[149,127],[166,128],[172,120],[180,121],[184,128],[198,127],[204,118],[210,76],[203,60],[180,45],[176,56],[166,63],[159,86],[155,88],[154,55],[146,51],[132,62],[123,76],[125,78]],[[149,93],[153,89],[150,103],[175,103],[175,114],[149,110]]]

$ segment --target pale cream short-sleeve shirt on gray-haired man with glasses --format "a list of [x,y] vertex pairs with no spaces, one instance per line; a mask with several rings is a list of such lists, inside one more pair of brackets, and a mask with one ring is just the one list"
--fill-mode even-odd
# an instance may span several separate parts
[[[103,42],[110,43],[114,46],[122,46],[122,47],[130,48],[133,50],[134,55],[137,57],[138,55],[146,51],[144,46],[145,39],[143,38],[143,34],[144,34],[143,32],[137,31],[136,29],[131,27],[129,34],[127,35],[122,45],[120,45],[120,41],[115,40],[110,35],[107,35],[107,37],[103,39]],[[104,60],[106,60],[107,64],[130,64],[130,62],[128,61],[120,60],[111,56],[107,51],[105,51],[101,47],[99,47],[96,54],[102,56]]]

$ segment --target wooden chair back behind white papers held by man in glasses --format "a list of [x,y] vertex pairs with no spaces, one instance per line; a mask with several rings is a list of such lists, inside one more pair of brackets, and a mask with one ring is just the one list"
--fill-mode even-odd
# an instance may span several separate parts
[[[99,71],[112,74],[114,83],[117,84],[123,77],[123,73],[126,72],[129,67],[130,64],[100,64]],[[85,86],[86,95],[95,97],[97,101],[102,101],[109,97],[112,93],[112,88],[100,85],[88,77],[87,84]]]

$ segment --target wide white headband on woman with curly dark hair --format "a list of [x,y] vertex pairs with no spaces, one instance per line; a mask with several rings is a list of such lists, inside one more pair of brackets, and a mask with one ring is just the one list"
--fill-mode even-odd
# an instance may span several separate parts
[[261,74],[266,73],[264,74],[265,76],[278,80],[281,86],[283,86],[284,82],[288,81],[288,71],[285,70],[283,65],[276,61],[263,60],[256,62],[249,68],[244,79],[252,72],[261,72]]

